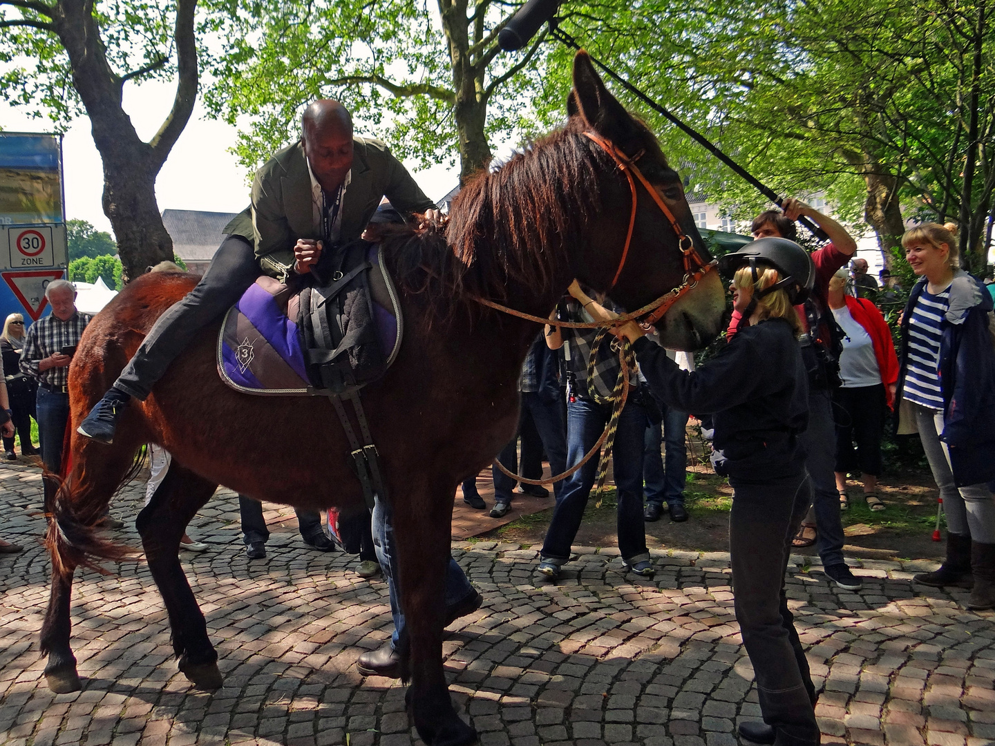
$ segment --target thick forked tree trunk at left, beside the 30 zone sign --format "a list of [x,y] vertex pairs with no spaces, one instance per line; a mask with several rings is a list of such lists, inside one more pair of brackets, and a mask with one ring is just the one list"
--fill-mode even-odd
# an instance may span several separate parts
[[155,200],[155,177],[186,126],[196,99],[195,8],[196,0],[177,0],[176,98],[150,142],[138,137],[121,107],[124,82],[133,76],[120,77],[107,63],[93,0],[60,0],[55,9],[53,27],[69,56],[73,85],[87,109],[103,163],[103,213],[113,227],[125,279],[138,277],[149,265],[173,259],[173,242]]

